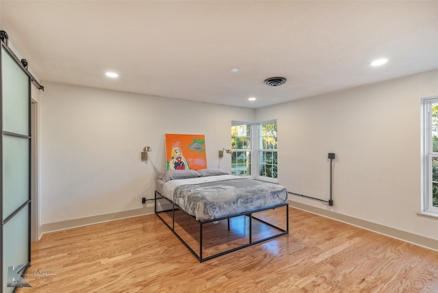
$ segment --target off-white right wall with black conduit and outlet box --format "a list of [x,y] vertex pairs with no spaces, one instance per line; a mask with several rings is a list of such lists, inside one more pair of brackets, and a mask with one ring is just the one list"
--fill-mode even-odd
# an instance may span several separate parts
[[438,96],[438,71],[324,94],[256,111],[276,118],[279,183],[334,205],[289,199],[438,240],[438,218],[419,216],[420,99]]

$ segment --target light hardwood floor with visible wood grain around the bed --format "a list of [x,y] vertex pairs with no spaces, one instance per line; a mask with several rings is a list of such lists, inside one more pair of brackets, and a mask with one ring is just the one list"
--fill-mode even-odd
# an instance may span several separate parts
[[292,207],[289,224],[203,263],[154,214],[48,233],[18,292],[438,292],[438,252]]

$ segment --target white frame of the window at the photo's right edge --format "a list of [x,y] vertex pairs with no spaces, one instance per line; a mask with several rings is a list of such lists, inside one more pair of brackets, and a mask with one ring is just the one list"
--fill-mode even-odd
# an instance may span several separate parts
[[438,103],[438,97],[422,99],[422,213],[438,216],[438,207],[433,206],[433,118],[432,105]]

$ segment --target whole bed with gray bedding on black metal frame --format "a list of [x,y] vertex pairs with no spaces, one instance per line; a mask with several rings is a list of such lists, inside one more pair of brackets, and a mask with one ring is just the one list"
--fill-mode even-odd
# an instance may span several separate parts
[[210,168],[169,170],[156,187],[155,214],[199,262],[289,233],[287,190],[278,184]]

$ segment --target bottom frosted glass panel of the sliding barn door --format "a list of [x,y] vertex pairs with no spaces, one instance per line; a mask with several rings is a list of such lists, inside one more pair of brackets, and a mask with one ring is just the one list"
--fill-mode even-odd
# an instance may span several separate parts
[[[25,207],[3,226],[3,291],[8,287],[8,267],[16,268],[29,262],[29,207]],[[32,285],[31,280],[26,279]],[[25,292],[25,289],[23,290]]]

